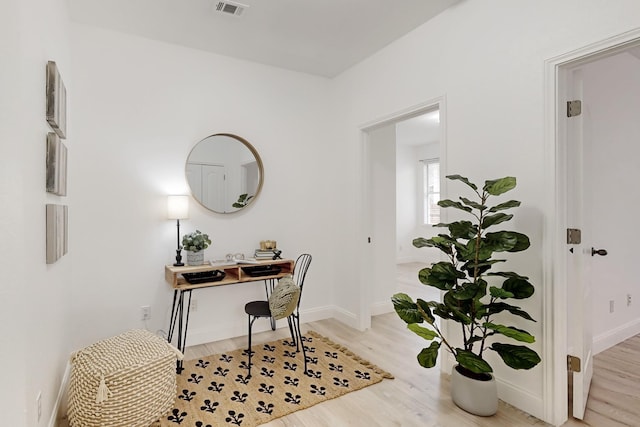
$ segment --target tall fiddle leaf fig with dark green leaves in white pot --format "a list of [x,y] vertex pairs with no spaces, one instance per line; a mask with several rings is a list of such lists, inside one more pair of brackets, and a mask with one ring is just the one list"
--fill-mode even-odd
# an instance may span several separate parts
[[[494,197],[515,188],[514,177],[485,181],[481,189],[460,175],[447,178],[464,183],[474,196],[441,200],[438,205],[457,209],[470,218],[437,224],[435,227],[446,228],[448,232],[413,240],[418,248],[437,248],[445,255],[446,261],[418,273],[422,284],[444,293],[442,301],[413,301],[407,294],[397,293],[392,302],[408,329],[431,341],[418,354],[418,363],[431,368],[436,365],[440,348],[448,350],[457,362],[451,377],[454,403],[476,415],[493,415],[498,408],[497,388],[486,354],[497,353],[513,369],[531,369],[540,362],[538,354],[524,345],[535,341],[533,335],[508,324],[512,316],[535,321],[513,302],[531,297],[533,285],[527,277],[513,271],[492,271],[506,262],[499,257],[500,253],[524,251],[530,242],[522,233],[492,231],[513,218],[513,214],[505,211],[520,206],[516,200],[493,202]],[[461,345],[442,334],[436,317],[458,324]]]

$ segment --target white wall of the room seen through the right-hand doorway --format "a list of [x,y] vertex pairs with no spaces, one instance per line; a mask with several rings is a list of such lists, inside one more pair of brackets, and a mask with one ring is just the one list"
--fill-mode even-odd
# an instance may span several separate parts
[[[586,228],[593,232],[585,238],[609,252],[591,259],[589,273],[594,351],[599,352],[640,333],[640,282],[633,268],[635,239],[629,234],[640,209],[640,58],[622,53],[600,59],[585,65],[582,76],[584,144],[590,153],[585,159],[585,197],[590,200],[585,216],[590,223]],[[609,301],[614,302],[613,313]]]

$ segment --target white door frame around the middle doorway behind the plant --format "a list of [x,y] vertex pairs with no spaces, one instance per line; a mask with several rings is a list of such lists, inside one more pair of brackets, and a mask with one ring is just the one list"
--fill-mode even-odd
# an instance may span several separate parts
[[[446,97],[440,96],[437,98],[433,98],[422,102],[418,105],[411,106],[401,111],[397,111],[395,113],[391,113],[387,116],[372,120],[370,122],[364,123],[359,126],[360,128],[360,136],[361,136],[361,157],[362,157],[362,177],[361,177],[361,207],[360,207],[360,218],[361,227],[359,230],[360,233],[360,242],[362,242],[360,247],[360,289],[359,289],[359,314],[357,319],[357,327],[360,330],[365,330],[371,327],[371,304],[372,301],[369,298],[369,286],[371,283],[371,268],[369,267],[372,263],[372,251],[371,244],[368,242],[368,239],[371,237],[371,230],[373,224],[373,212],[370,209],[371,205],[371,158],[370,158],[370,141],[369,141],[369,132],[372,130],[378,129],[380,127],[388,126],[391,124],[395,124],[397,122],[410,119],[412,117],[416,117],[422,115],[426,112],[433,111],[438,109],[440,112],[440,176],[444,176],[446,174]],[[446,192],[446,182],[447,180],[442,180],[440,182],[440,193],[447,194]],[[443,218],[443,221],[446,218]],[[445,221],[446,222],[446,221]],[[375,236],[374,236],[375,237]],[[375,241],[374,241],[375,243]],[[389,296],[391,298],[391,296]],[[389,300],[389,304],[391,304],[391,300]],[[442,359],[444,360],[444,359]],[[443,363],[443,369],[446,368],[450,371],[451,364]]]

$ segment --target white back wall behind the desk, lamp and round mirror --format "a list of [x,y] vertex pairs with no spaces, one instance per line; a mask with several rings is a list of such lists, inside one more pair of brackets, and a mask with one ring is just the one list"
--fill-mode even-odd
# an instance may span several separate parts
[[[302,311],[330,315],[334,215],[329,81],[83,25],[72,26],[74,140],[69,191],[75,348],[132,327],[167,330],[176,225],[166,196],[186,194],[185,161],[198,141],[228,132],[248,140],[265,169],[247,209],[214,214],[191,200],[181,232],[213,243],[206,259],[278,242],[285,257],[313,255]],[[188,345],[246,334],[245,302],[261,282],[194,292]],[[151,320],[139,320],[140,306]],[[267,322],[258,322],[267,328]]]

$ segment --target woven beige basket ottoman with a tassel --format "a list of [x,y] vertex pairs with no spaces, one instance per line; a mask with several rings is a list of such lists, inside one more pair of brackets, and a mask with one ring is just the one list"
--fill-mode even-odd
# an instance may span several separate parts
[[176,359],[161,337],[136,329],[71,356],[67,415],[72,427],[148,427],[173,406]]

